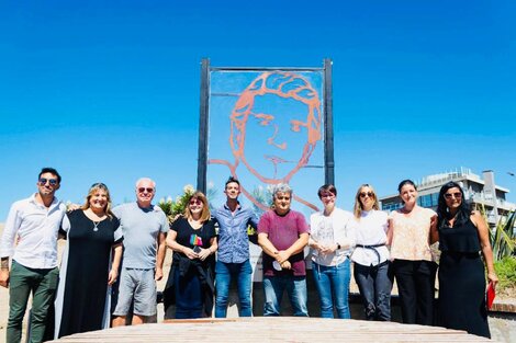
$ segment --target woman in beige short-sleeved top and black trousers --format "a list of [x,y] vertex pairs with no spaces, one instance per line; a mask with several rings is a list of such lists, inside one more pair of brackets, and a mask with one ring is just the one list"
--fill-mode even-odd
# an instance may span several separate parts
[[404,206],[391,213],[391,259],[404,323],[431,325],[437,264],[431,260],[430,228],[437,215],[417,205],[417,188],[403,180],[397,191]]

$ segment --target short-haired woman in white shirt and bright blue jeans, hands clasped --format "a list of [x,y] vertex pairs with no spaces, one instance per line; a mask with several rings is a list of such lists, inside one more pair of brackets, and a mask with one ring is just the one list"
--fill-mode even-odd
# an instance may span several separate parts
[[351,278],[349,256],[355,245],[355,231],[350,225],[352,215],[335,206],[337,188],[325,184],[317,191],[324,205],[322,211],[310,217],[310,248],[312,271],[321,300],[321,317],[337,316],[349,319],[349,281]]

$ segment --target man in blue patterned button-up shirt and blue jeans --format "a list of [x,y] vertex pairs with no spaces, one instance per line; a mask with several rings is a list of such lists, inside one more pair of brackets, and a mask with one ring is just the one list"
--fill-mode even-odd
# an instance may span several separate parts
[[225,184],[226,203],[215,211],[218,222],[218,251],[215,266],[215,317],[225,318],[232,277],[237,279],[240,317],[251,317],[250,300],[253,267],[249,262],[247,227],[257,228],[258,218],[251,208],[238,202],[240,183],[231,176]]

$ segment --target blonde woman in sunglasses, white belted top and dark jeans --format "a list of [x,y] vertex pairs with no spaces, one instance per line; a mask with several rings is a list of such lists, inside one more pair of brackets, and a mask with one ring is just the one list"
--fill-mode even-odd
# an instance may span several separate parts
[[362,184],[355,197],[354,219],[357,244],[351,255],[354,276],[362,296],[367,320],[391,320],[389,277],[388,215],[379,210],[378,197],[369,184]]

